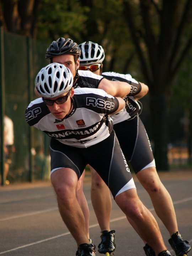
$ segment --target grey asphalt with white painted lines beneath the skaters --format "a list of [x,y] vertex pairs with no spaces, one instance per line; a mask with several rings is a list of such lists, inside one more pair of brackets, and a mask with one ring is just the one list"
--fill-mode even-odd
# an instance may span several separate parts
[[[160,176],[174,201],[180,233],[192,244],[192,171],[160,173]],[[136,180],[135,183],[139,197],[157,219],[165,244],[171,251],[169,234],[156,216],[148,194]],[[86,178],[84,192],[90,208],[90,237],[97,246],[100,229],[90,201],[89,178]],[[115,203],[111,229],[116,230],[115,256],[144,255],[142,240]],[[49,183],[0,188],[0,255],[74,256],[76,249],[76,243],[59,215]],[[173,255],[173,251],[171,253]]]

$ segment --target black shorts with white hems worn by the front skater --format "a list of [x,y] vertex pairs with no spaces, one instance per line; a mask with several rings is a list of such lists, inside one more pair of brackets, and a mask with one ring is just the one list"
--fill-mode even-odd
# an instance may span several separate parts
[[90,164],[110,188],[114,198],[128,189],[135,188],[114,131],[108,138],[89,148],[68,146],[52,138],[50,155],[51,173],[66,167],[73,169],[80,178],[85,166]]

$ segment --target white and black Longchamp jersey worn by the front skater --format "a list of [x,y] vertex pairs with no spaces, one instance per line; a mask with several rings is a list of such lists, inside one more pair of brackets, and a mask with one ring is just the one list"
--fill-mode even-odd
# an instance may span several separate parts
[[26,121],[65,145],[87,148],[110,135],[113,123],[108,114],[118,107],[117,98],[103,90],[76,88],[73,108],[63,120],[56,119],[42,98],[37,98],[27,107]]

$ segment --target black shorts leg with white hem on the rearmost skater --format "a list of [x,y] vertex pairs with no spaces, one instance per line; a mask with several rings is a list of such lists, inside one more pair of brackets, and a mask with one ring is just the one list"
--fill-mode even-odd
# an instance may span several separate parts
[[149,138],[139,116],[114,124],[113,129],[135,174],[148,167],[155,167]]

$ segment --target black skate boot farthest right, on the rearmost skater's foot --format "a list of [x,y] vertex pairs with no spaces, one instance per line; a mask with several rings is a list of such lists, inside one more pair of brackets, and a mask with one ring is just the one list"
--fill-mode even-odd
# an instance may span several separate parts
[[175,251],[176,256],[186,255],[187,252],[191,250],[191,246],[188,241],[183,240],[182,236],[178,233],[178,231],[172,234],[169,239],[169,243],[172,249]]

